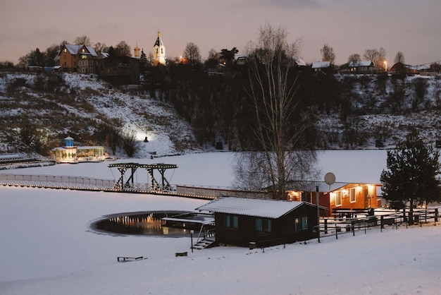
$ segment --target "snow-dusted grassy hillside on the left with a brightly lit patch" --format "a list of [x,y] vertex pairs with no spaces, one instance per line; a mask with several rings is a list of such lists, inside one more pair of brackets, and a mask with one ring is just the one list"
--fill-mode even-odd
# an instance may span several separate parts
[[76,73],[63,73],[61,79],[49,76],[49,81],[42,77],[36,73],[0,75],[0,152],[20,148],[17,138],[24,121],[44,132],[49,149],[60,146],[66,136],[80,145],[101,145],[90,136],[99,131],[100,124],[118,124],[123,132],[135,133],[138,157],[198,150],[190,125],[173,106],[147,92],[118,90],[95,76]]

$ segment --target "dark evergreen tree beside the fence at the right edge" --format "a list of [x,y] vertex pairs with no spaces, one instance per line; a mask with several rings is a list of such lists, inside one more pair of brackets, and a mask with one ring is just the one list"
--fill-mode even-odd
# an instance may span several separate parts
[[409,203],[409,223],[413,224],[413,208],[440,200],[441,165],[440,153],[431,145],[425,145],[416,130],[397,145],[396,150],[387,151],[387,169],[380,181],[383,196],[392,203]]

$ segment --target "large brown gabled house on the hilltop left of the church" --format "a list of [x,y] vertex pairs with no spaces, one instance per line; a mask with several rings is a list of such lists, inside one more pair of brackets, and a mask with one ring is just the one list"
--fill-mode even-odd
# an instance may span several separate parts
[[56,59],[64,71],[96,73],[98,54],[90,46],[64,44]]

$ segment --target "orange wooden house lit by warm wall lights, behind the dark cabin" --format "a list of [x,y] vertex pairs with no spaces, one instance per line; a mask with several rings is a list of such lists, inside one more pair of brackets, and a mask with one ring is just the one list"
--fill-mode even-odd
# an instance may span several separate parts
[[329,208],[326,214],[331,216],[334,208],[355,210],[380,207],[380,200],[377,198],[377,189],[380,186],[377,183],[335,182],[328,185],[324,181],[293,181],[287,191],[287,199],[316,204],[318,191],[318,203]]

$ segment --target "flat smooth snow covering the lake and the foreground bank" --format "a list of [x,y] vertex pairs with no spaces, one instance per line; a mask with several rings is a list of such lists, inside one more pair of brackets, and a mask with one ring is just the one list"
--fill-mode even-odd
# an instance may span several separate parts
[[[177,184],[229,186],[234,155],[212,152],[121,162],[178,164]],[[379,182],[386,152],[327,151],[323,174]],[[1,173],[113,179],[108,163]],[[193,210],[205,200],[163,195],[0,187],[0,294],[440,294],[441,224],[371,229],[307,243],[190,252],[182,238],[99,234],[104,215]],[[187,251],[187,257],[175,257]],[[118,256],[145,260],[118,263]]]

